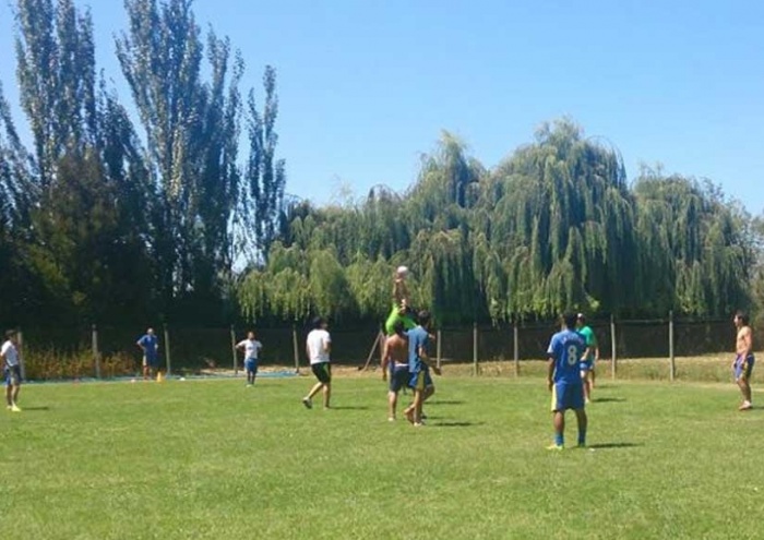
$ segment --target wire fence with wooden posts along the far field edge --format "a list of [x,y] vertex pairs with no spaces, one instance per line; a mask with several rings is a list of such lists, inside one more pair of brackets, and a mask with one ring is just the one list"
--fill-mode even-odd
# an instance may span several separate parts
[[[672,379],[676,358],[730,355],[735,327],[730,320],[589,321],[600,351],[604,371],[616,376],[631,361],[666,360]],[[166,374],[230,374],[241,370],[241,352],[235,345],[249,328],[155,327],[159,339],[159,365]],[[444,327],[434,332],[430,356],[442,364],[506,363],[520,374],[521,365],[545,360],[556,322],[509,326]],[[296,370],[307,367],[301,327],[254,328],[263,344],[263,369]],[[339,365],[374,369],[380,363],[381,339],[375,328],[330,328],[332,361]],[[22,328],[22,352],[27,379],[109,379],[136,376],[142,352],[138,339],[145,328],[115,326]],[[755,332],[754,332],[755,334]],[[614,347],[613,347],[614,343]],[[637,360],[638,359],[638,360]],[[679,370],[681,371],[681,369]]]

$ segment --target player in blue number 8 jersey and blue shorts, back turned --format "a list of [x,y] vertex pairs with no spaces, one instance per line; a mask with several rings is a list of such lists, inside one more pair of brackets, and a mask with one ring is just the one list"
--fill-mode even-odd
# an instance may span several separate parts
[[575,332],[576,315],[563,315],[563,328],[549,343],[547,384],[552,393],[554,444],[549,449],[564,448],[565,410],[573,409],[578,421],[578,446],[586,446],[586,411],[580,360],[586,350],[584,338]]

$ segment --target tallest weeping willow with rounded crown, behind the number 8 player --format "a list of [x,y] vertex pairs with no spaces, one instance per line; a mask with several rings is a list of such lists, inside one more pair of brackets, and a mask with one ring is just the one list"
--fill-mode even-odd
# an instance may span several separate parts
[[496,208],[482,232],[503,261],[488,268],[493,280],[506,276],[506,316],[633,304],[637,292],[622,287],[635,279],[633,203],[617,152],[563,120],[542,127],[494,177],[503,185],[487,185],[478,205]]

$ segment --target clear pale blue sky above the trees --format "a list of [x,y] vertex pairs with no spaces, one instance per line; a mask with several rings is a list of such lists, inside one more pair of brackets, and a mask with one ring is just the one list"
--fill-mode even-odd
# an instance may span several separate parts
[[[130,93],[114,53],[121,0],[91,5],[98,69]],[[325,203],[405,190],[442,130],[487,167],[569,116],[640,164],[709,178],[764,212],[764,2],[754,0],[196,0],[260,92],[278,71],[287,191]],[[17,105],[13,23],[0,0],[0,80]],[[16,111],[16,122],[25,121]]]

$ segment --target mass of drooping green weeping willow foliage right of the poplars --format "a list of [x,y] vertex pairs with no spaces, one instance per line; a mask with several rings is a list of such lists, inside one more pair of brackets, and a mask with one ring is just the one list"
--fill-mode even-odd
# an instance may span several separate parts
[[415,304],[443,324],[565,309],[726,315],[750,304],[750,221],[709,183],[645,170],[630,187],[617,151],[560,120],[490,172],[444,133],[407,193],[380,187],[355,204],[296,208],[270,256],[288,247],[288,265],[314,283],[306,262],[330,250],[350,298],[330,304],[314,287],[310,311],[339,316],[381,320],[398,264],[416,277]]

